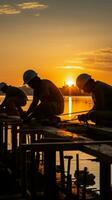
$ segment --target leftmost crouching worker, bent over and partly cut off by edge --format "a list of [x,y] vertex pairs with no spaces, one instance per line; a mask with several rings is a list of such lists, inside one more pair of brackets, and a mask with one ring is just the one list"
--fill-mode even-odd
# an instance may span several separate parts
[[8,86],[6,83],[0,83],[0,90],[5,94],[5,98],[0,105],[0,116],[22,117],[24,111],[22,106],[27,103],[26,94],[18,87]]

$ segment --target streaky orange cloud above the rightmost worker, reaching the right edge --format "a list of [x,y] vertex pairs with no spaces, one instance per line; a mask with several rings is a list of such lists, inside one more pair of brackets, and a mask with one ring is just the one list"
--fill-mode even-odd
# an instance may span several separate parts
[[112,48],[98,49],[96,51],[76,54],[75,59],[68,61],[82,66],[85,70],[100,70],[112,72]]

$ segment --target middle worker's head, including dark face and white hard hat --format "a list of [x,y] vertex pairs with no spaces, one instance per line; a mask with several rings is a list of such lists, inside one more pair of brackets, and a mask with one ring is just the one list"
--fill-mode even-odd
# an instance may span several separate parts
[[23,80],[24,84],[28,84],[30,87],[34,88],[34,86],[39,82],[40,78],[34,70],[29,69],[24,72]]

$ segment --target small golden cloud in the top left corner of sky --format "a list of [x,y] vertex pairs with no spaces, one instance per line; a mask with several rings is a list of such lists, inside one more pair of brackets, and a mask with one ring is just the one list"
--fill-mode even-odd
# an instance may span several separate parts
[[[20,14],[22,12],[24,12],[25,10],[33,10],[33,11],[37,11],[37,10],[43,10],[46,9],[48,7],[47,4],[42,4],[36,1],[33,2],[23,2],[23,3],[19,3],[19,4],[2,4],[0,5],[0,15],[14,15],[14,14]],[[35,15],[35,16],[39,16]]]

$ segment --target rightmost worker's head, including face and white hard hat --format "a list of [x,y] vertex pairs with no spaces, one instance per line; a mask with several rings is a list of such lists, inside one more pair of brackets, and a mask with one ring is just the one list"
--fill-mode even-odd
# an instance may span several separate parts
[[91,92],[95,81],[89,74],[80,74],[76,79],[76,85],[85,92]]

